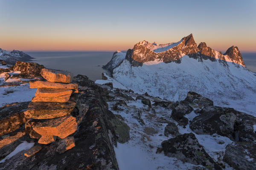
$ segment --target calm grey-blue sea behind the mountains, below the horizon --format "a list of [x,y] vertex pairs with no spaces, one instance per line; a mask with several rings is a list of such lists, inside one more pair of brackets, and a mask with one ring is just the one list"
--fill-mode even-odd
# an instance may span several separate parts
[[[108,72],[102,69],[113,56],[114,51],[26,51],[34,62],[44,65],[46,68],[66,70],[74,74],[86,75],[95,81],[102,79],[102,73]],[[241,53],[246,67],[256,72],[256,53]]]

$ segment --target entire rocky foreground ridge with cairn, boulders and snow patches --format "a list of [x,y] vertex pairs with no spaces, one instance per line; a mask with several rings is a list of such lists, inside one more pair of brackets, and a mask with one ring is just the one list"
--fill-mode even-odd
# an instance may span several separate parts
[[8,79],[30,79],[3,77],[2,88],[29,82],[38,89],[32,102],[0,108],[0,170],[256,169],[252,115],[215,106],[195,92],[175,102],[112,83],[96,85],[86,76],[36,63],[17,62],[12,68],[20,76]]

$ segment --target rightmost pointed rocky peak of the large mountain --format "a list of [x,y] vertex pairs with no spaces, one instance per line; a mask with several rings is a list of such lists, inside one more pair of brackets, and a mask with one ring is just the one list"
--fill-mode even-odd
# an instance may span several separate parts
[[235,62],[245,67],[242,54],[239,51],[238,47],[235,47],[233,45],[232,47],[227,49],[224,55],[227,55],[228,57],[230,57],[232,62]]

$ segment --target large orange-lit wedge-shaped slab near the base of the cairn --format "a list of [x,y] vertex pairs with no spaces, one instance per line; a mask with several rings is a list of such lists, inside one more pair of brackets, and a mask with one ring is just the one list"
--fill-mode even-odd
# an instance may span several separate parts
[[41,135],[41,138],[38,140],[38,143],[41,144],[54,142],[54,136],[64,139],[74,133],[76,129],[76,118],[71,115],[49,119],[47,122],[39,123],[33,127],[33,130]]

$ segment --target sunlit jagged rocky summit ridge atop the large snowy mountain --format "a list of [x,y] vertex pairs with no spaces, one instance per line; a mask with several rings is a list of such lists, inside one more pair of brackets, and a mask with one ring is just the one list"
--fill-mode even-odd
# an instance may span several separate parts
[[127,53],[125,58],[132,62],[133,66],[141,66],[144,62],[156,60],[166,63],[180,63],[180,58],[184,55],[199,59],[200,61],[202,59],[210,59],[211,61],[221,59],[224,62],[234,62],[245,67],[241,53],[237,47],[230,47],[223,55],[220,51],[215,51],[208,47],[205,42],[201,42],[197,46],[193,34],[183,37],[179,42],[160,45],[157,45],[156,42],[140,41],[134,45],[134,48]]

